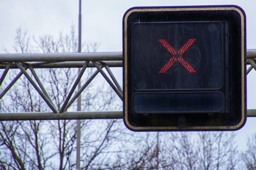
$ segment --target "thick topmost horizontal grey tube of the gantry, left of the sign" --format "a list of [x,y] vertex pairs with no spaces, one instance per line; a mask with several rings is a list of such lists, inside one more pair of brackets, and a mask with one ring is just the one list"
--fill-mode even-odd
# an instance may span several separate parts
[[122,60],[122,52],[111,53],[36,53],[0,54],[0,62],[65,62]]

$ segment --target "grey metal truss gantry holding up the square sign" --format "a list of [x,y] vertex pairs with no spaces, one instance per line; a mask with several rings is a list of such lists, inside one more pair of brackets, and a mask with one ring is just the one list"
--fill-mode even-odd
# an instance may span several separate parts
[[[256,70],[256,50],[247,50],[247,74],[254,68]],[[77,85],[88,67],[97,68],[87,81],[81,85],[74,94]],[[108,75],[102,70],[106,68]],[[110,67],[122,67],[122,52],[113,53],[52,53],[52,54],[0,54],[0,69],[5,69],[0,78],[0,86],[3,83],[9,69],[20,69],[20,72],[0,93],[0,99],[24,74],[28,81],[33,85],[38,94],[44,99],[52,112],[26,112],[26,113],[0,113],[0,120],[50,120],[50,119],[122,119],[122,111],[67,111],[77,97],[84,91],[98,73],[102,74],[108,84],[122,100],[122,88],[116,81]],[[66,100],[58,111],[49,97],[44,85],[40,81],[34,68],[81,68],[73,87],[70,89]],[[29,69],[36,82],[30,77]],[[248,117],[256,116],[256,109],[247,110]]]

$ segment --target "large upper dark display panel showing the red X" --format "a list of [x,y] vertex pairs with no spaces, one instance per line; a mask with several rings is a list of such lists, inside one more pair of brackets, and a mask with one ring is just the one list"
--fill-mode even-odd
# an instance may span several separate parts
[[221,22],[131,23],[132,87],[222,88],[223,29]]

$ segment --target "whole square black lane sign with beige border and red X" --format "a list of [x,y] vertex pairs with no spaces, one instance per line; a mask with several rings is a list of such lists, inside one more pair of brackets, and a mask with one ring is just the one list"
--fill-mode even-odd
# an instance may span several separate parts
[[123,17],[123,116],[134,131],[237,130],[246,121],[238,6],[135,7]]

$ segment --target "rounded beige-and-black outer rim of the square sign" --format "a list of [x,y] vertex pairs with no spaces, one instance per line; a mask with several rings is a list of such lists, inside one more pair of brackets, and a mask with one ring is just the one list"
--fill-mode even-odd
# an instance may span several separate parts
[[[139,114],[131,114],[129,110],[131,110],[130,106],[129,106],[129,101],[131,100],[129,97],[129,91],[131,88],[131,85],[129,84],[131,77],[129,76],[129,50],[130,50],[130,46],[129,46],[129,41],[130,41],[130,32],[129,32],[129,23],[134,23],[134,14],[136,13],[137,16],[140,16],[143,18],[143,20],[139,20],[139,22],[148,22],[148,18],[147,18],[147,14],[149,12],[154,13],[154,15],[157,15],[157,12],[169,12],[169,17],[171,17],[172,12],[179,12],[179,11],[197,11],[197,12],[202,12],[205,13],[207,11],[223,11],[223,10],[230,10],[230,11],[236,11],[236,13],[239,15],[239,17],[241,18],[241,29],[240,29],[240,33],[241,37],[239,37],[239,42],[237,42],[236,44],[241,44],[241,53],[239,54],[239,61],[237,61],[239,63],[239,66],[237,68],[241,69],[239,71],[237,71],[240,75],[239,75],[239,84],[241,85],[240,90],[239,90],[239,107],[241,107],[241,114],[239,116],[239,122],[236,123],[236,125],[225,125],[225,124],[220,124],[220,125],[214,125],[214,118],[211,118],[209,124],[213,125],[209,125],[209,126],[201,126],[201,125],[192,125],[192,126],[187,126],[187,127],[178,127],[177,126],[177,120],[172,120],[170,121],[168,126],[165,125],[158,125],[160,124],[160,122],[162,121],[163,123],[163,119],[159,118],[159,116],[154,115],[154,114],[148,114],[145,115],[143,118],[143,115],[139,115]],[[147,14],[146,14],[147,13]],[[207,14],[210,14],[210,12],[208,12]],[[153,14],[152,14],[153,15]],[[130,17],[131,16],[131,17]],[[145,17],[146,16],[146,17]],[[129,18],[130,17],[130,18]],[[220,17],[219,17],[220,18]],[[220,19],[221,20],[221,19]],[[128,127],[130,130],[134,130],[134,131],[159,131],[159,130],[167,130],[167,131],[189,131],[189,130],[238,130],[239,128],[241,128],[244,123],[246,122],[246,36],[245,36],[245,30],[246,30],[246,26],[245,26],[245,14],[244,11],[239,8],[238,6],[192,6],[192,7],[135,7],[135,8],[131,8],[128,11],[126,11],[124,17],[123,17],[123,61],[124,61],[124,65],[123,65],[123,85],[124,85],[124,100],[123,100],[123,116],[124,116],[124,123],[126,125],[126,127]],[[175,20],[176,21],[176,20]],[[214,20],[215,21],[215,20]],[[154,22],[157,22],[154,20]],[[177,21],[176,21],[177,22]],[[241,42],[240,42],[241,41]],[[232,56],[233,57],[233,56]],[[250,59],[249,59],[250,60]],[[249,62],[248,60],[248,62]],[[251,61],[250,61],[251,62]],[[252,69],[252,68],[250,68]],[[238,75],[236,75],[238,76]],[[231,78],[232,79],[232,78]],[[233,102],[233,101],[231,101]],[[234,108],[233,108],[234,110]],[[239,110],[240,112],[240,110]],[[195,115],[195,114],[194,114]],[[173,114],[171,116],[177,116],[177,114]],[[208,115],[207,115],[208,116]],[[219,115],[217,119],[227,119],[229,115]],[[150,117],[150,118],[149,118]],[[191,116],[190,116],[191,117]],[[199,117],[198,117],[199,118]],[[200,118],[199,118],[200,119]],[[150,122],[158,122],[157,123],[151,123],[150,126],[148,126],[148,124],[150,124]],[[169,121],[169,119],[167,119],[166,121]],[[136,125],[137,122],[138,125]],[[139,125],[141,123],[141,125]],[[145,122],[149,122],[148,124],[146,124]],[[191,123],[191,122],[190,122]],[[157,124],[157,126],[155,126],[155,124]],[[165,124],[168,124],[165,123]]]

